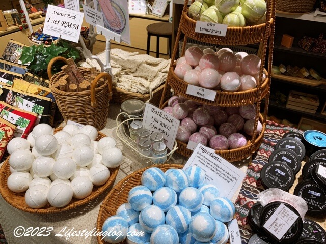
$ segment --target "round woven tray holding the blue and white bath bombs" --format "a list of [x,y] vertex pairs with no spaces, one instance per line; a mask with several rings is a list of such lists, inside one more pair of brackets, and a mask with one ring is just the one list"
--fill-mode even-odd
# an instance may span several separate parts
[[[152,167],[160,168],[162,171],[165,172],[171,168],[182,169],[183,165],[161,164],[161,165],[155,165]],[[150,168],[150,167],[138,170],[138,171],[128,175],[124,179],[122,179],[110,191],[110,193],[105,197],[102,205],[100,206],[100,211],[97,216],[96,228],[98,231],[102,230],[103,223],[108,217],[116,214],[116,211],[117,211],[118,207],[120,207],[121,204],[128,202],[127,199],[128,199],[128,193],[129,193],[130,189],[135,186],[141,185],[142,174],[148,168]],[[102,236],[97,236],[98,243],[107,243],[104,240],[102,240],[101,238],[102,238]],[[121,243],[127,243],[127,242],[123,241]]]

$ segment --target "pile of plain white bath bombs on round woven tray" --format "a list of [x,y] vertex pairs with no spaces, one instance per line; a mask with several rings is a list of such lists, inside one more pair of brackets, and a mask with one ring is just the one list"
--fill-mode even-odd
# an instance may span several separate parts
[[31,208],[48,203],[64,207],[73,197],[88,197],[93,186],[107,182],[109,168],[122,161],[115,139],[103,137],[97,142],[97,137],[90,125],[79,129],[70,124],[54,134],[51,126],[39,124],[27,139],[13,138],[7,146],[8,188],[15,193],[26,191],[25,201]]

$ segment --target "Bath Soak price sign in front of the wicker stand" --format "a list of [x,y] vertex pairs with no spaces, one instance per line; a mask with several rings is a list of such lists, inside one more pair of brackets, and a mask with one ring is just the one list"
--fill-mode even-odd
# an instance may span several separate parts
[[162,133],[164,142],[170,150],[173,149],[179,125],[180,120],[164,112],[153,104],[146,103],[143,127],[149,130],[151,134],[153,132]]

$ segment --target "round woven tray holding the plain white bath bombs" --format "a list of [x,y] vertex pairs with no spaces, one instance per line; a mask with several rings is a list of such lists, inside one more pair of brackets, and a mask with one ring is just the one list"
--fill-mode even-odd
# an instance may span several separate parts
[[[62,128],[57,128],[55,130],[55,133],[60,130],[62,130]],[[104,135],[101,132],[98,132],[98,137],[97,137],[96,141],[99,141],[103,137],[106,137],[106,135]],[[100,194],[102,194],[106,189],[110,188],[113,185],[114,181],[116,180],[118,171],[119,171],[119,167],[114,168],[114,169],[109,169],[110,170],[110,178],[108,178],[107,182],[102,186],[94,186],[91,195],[89,195],[88,197],[86,197],[84,199],[72,198],[71,202],[68,205],[66,205],[65,207],[61,207],[61,208],[52,207],[50,204],[47,204],[43,208],[34,209],[34,208],[29,207],[26,204],[25,192],[14,193],[9,190],[9,188],[7,186],[7,179],[11,173],[10,173],[10,169],[9,169],[8,160],[9,160],[9,157],[6,159],[6,161],[4,162],[3,166],[0,169],[0,194],[6,200],[6,202],[8,202],[13,207],[15,207],[19,210],[22,210],[24,212],[31,212],[31,213],[37,213],[37,214],[54,214],[56,212],[63,212],[66,210],[76,208],[77,206],[82,206],[82,205],[92,201],[93,199],[97,198]]]

